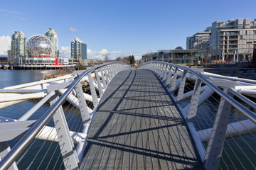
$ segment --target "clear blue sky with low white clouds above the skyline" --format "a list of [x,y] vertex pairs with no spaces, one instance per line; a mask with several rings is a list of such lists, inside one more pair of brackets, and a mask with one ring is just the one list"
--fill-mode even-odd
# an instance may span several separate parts
[[87,43],[90,58],[100,59],[108,52],[110,58],[134,55],[139,59],[146,52],[186,48],[186,37],[214,21],[254,20],[255,8],[255,0],[1,0],[0,55],[6,54],[14,31],[30,38],[53,28],[65,56],[76,35]]

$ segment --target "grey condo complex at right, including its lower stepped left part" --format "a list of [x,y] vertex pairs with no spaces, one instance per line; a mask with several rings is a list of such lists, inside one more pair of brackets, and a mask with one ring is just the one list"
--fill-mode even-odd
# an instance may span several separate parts
[[215,21],[205,32],[186,39],[187,49],[200,50],[200,56],[211,60],[238,62],[252,57],[256,45],[256,20]]

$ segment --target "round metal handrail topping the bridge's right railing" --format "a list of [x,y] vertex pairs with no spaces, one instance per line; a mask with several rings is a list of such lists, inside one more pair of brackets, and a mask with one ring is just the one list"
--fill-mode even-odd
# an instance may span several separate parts
[[[194,72],[192,69],[189,69],[188,67],[184,67],[178,64],[171,64],[171,63],[166,63],[166,62],[158,62],[158,61],[150,61],[150,62],[146,62],[144,64],[149,64],[149,63],[161,63],[161,64],[169,64],[171,66],[175,66],[181,69],[186,69],[186,71],[191,72],[193,75],[195,75],[198,79],[201,79],[201,81],[203,81],[206,85],[208,85],[210,87],[210,89],[213,89],[213,91],[215,91],[216,94],[220,95],[221,97],[225,98],[226,101],[228,101],[228,103],[230,103],[234,108],[237,108],[238,111],[240,111],[241,113],[243,113],[244,115],[247,116],[247,118],[249,118],[250,120],[252,120],[253,123],[256,124],[256,114],[253,113],[252,111],[250,111],[249,109],[245,108],[245,106],[242,106],[241,103],[239,103],[238,101],[235,101],[235,99],[231,98],[228,94],[225,94],[222,90],[220,90],[217,86],[213,85],[212,83],[210,83],[210,81],[208,81],[207,79],[205,79],[204,77],[202,77],[200,74]],[[144,65],[141,64],[140,66]]]

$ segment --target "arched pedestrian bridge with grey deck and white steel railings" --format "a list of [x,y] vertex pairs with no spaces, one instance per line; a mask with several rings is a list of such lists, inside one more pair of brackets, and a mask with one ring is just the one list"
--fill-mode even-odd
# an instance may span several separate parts
[[255,169],[256,105],[241,84],[256,81],[110,62],[1,89],[0,108],[43,99],[0,117],[0,169]]

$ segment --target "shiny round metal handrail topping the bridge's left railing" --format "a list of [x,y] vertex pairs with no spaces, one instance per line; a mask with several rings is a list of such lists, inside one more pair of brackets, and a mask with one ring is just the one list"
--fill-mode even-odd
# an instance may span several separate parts
[[71,91],[75,88],[75,86],[80,82],[82,77],[85,77],[86,74],[94,71],[95,69],[98,69],[100,67],[105,67],[109,64],[114,64],[114,63],[124,64],[123,62],[109,62],[109,63],[105,63],[105,64],[100,64],[98,66],[95,66],[95,67],[92,67],[91,69],[86,70],[85,72],[83,72],[80,75],[80,77],[75,79],[75,81],[73,81],[73,83],[70,84],[70,86],[65,91],[65,93],[62,96],[60,96],[58,101],[56,101],[53,104],[53,106],[51,106],[48,109],[48,111],[46,111],[46,113],[43,114],[43,116],[40,119],[38,119],[38,121],[36,121],[36,123],[28,130],[26,135],[24,135],[21,138],[21,140],[19,140],[17,142],[17,144],[11,149],[11,151],[8,152],[8,154],[6,154],[6,156],[3,159],[1,159],[0,169],[8,169],[9,166],[11,166],[11,164],[13,164],[13,162],[15,162],[15,160],[18,158],[18,156],[26,149],[26,147],[28,147],[28,145],[33,141],[33,139],[36,137],[36,135],[38,135],[38,132],[40,132],[42,130],[42,128],[46,125],[46,123],[48,123],[50,118],[53,117],[55,111],[57,111],[57,109],[60,107],[60,105],[62,105],[64,103],[65,99],[68,97],[68,95],[71,93]]

